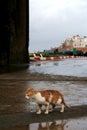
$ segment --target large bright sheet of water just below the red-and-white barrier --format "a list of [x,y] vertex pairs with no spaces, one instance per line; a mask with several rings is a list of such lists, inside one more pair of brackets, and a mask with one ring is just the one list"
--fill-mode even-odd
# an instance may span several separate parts
[[87,77],[87,59],[33,62],[30,64],[29,71],[50,75]]

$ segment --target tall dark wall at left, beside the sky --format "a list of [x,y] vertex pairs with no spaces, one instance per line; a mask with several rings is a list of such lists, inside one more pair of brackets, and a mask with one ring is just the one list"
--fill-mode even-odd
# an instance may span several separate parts
[[0,0],[0,65],[29,62],[28,0]]

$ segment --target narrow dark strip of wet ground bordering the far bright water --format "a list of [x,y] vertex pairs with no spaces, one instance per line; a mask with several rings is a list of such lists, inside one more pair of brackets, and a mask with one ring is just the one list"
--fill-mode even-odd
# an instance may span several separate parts
[[31,80],[31,81],[87,81],[87,77],[76,77],[76,76],[63,76],[63,75],[50,75],[42,73],[29,73],[25,71],[18,71],[12,73],[0,74],[0,80]]

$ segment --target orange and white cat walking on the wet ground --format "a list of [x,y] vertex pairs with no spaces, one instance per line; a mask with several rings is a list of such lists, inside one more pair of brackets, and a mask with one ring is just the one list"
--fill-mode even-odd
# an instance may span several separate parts
[[[45,105],[46,107],[45,114],[48,114],[50,111],[53,111],[56,105],[61,105],[60,112],[64,112],[64,107],[67,106],[64,101],[63,95],[57,90],[38,91],[32,88],[28,88],[25,97],[27,99],[34,99],[35,102],[38,104],[37,114],[41,114],[42,105]],[[51,109],[49,109],[49,105],[52,105]]]

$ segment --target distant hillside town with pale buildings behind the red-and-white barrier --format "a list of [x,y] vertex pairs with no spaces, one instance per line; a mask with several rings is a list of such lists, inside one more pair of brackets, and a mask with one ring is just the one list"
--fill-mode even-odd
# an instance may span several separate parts
[[[85,55],[87,56],[87,36],[80,37],[79,35],[65,39],[60,46],[36,52],[43,55]],[[32,55],[32,54],[29,54]]]

